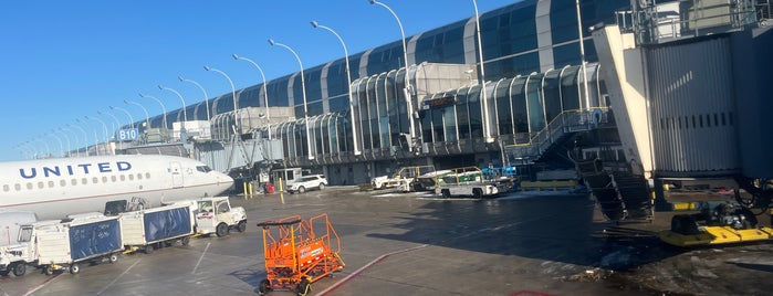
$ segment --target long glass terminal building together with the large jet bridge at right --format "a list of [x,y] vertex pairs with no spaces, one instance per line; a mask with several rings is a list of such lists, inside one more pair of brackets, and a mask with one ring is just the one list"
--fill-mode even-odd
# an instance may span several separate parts
[[[303,168],[330,184],[432,165],[516,167],[524,178],[577,169],[600,173],[597,186],[609,191],[609,176],[624,169],[615,178],[643,188],[636,202],[649,200],[645,180],[773,176],[764,136],[772,7],[519,1],[482,13],[480,33],[470,15],[222,94],[211,109],[169,112],[171,137],[150,140],[147,129],[123,150],[186,154],[259,181]],[[186,113],[195,120],[182,134]],[[585,170],[582,159],[604,168]]]

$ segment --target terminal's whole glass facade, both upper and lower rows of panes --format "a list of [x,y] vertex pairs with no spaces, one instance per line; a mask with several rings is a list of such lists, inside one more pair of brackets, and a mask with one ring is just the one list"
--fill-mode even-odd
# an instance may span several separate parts
[[[550,21],[537,22],[537,8],[549,6]],[[581,0],[582,28],[613,23],[614,11],[626,9],[628,1]],[[349,155],[357,150],[404,150],[410,135],[420,144],[477,141],[484,136],[529,139],[545,128],[560,114],[578,108],[604,106],[605,92],[597,80],[598,65],[589,34],[584,34],[585,60],[588,66],[589,97],[584,98],[577,14],[574,0],[525,0],[481,14],[480,36],[485,60],[488,110],[483,109],[480,85],[466,85],[428,97],[411,97],[416,112],[408,113],[404,88],[406,61],[401,40],[349,56],[352,85],[347,85],[344,59],[304,68],[307,113],[304,113],[301,74],[293,73],[267,82],[269,106],[290,106],[296,120],[273,125],[272,135],[282,140],[285,158],[315,158]],[[407,36],[410,64],[478,64],[474,15],[427,32]],[[541,27],[542,25],[542,27]],[[547,28],[545,28],[545,25]],[[550,39],[537,39],[546,32]],[[542,43],[541,43],[542,42]],[[545,44],[544,42],[549,42]],[[550,56],[551,61],[541,61]],[[410,67],[409,67],[410,68]],[[263,106],[262,84],[238,91],[239,107]],[[348,92],[352,92],[352,102]],[[424,103],[441,99],[443,105],[422,109]],[[210,99],[212,116],[233,110],[230,93]],[[439,101],[438,101],[439,102]],[[188,107],[189,119],[205,119],[203,104]],[[169,113],[169,126],[180,110]],[[488,121],[484,116],[488,114]],[[309,116],[305,123],[304,115]],[[152,118],[159,126],[160,116]],[[227,125],[227,120],[215,123]],[[306,127],[310,134],[306,142]],[[356,133],[353,133],[353,129]],[[267,134],[265,127],[257,127]],[[260,135],[260,134],[259,134]]]

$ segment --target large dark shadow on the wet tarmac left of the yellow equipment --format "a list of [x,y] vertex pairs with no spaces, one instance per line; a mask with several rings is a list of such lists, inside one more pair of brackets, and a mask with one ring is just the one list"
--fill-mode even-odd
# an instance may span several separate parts
[[613,271],[683,252],[664,247],[652,233],[599,235],[614,224],[594,222],[594,202],[587,195],[439,200],[410,215],[393,225],[404,234],[369,236]]

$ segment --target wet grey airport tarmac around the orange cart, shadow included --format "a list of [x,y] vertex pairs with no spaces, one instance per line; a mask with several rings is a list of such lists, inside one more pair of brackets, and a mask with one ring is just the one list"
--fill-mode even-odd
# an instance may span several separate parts
[[[248,229],[197,237],[81,273],[0,276],[0,295],[255,295],[265,278],[257,223],[327,213],[346,268],[311,295],[769,295],[773,245],[681,250],[652,221],[606,222],[588,194],[523,192],[494,199],[328,187],[303,194],[231,197]],[[765,221],[764,223],[770,223]],[[275,290],[270,295],[294,295]]]

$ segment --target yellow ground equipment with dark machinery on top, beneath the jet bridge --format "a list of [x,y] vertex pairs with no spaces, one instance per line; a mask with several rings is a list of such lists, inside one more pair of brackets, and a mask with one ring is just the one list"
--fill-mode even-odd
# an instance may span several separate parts
[[700,213],[675,215],[671,229],[658,234],[660,240],[682,247],[773,240],[773,229],[758,228],[748,208],[732,202],[700,202],[698,208]]

